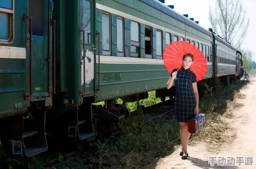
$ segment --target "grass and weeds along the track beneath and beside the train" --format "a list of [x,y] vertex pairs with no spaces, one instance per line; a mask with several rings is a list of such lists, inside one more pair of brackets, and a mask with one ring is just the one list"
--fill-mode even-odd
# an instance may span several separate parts
[[[209,115],[212,111],[223,113],[226,100],[232,100],[234,91],[248,82],[235,81],[227,86],[220,84],[214,93],[207,93],[209,90],[206,90],[205,96],[200,98],[200,112]],[[98,137],[93,142],[73,148],[59,145],[66,151],[39,154],[27,161],[6,160],[1,153],[0,168],[131,169],[132,166],[141,168],[159,157],[165,157],[172,153],[175,145],[180,144],[179,128],[175,121],[173,100],[161,102],[154,95],[153,91],[148,99],[126,103],[132,112],[130,118],[120,122],[122,134],[110,138]],[[214,109],[211,109],[212,105]],[[194,138],[194,135],[191,137]],[[3,164],[6,166],[3,167]]]

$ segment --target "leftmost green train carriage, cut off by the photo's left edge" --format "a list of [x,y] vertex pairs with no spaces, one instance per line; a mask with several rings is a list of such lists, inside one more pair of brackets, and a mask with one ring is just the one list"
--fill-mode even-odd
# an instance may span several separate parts
[[[0,2],[0,140],[12,154],[47,150],[41,107],[51,106],[53,94],[50,5],[51,0]],[[28,112],[36,112],[33,119]]]

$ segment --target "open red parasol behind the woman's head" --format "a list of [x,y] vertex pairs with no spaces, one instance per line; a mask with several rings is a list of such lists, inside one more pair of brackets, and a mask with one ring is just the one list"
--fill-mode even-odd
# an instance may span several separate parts
[[173,69],[181,68],[182,57],[186,53],[194,55],[194,61],[189,69],[196,74],[197,81],[202,80],[207,72],[206,58],[199,48],[186,41],[175,41],[166,46],[163,61],[167,71],[171,73]]

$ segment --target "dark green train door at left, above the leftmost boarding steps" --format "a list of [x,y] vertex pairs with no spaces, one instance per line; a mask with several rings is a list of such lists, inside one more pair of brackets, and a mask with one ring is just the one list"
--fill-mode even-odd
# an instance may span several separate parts
[[50,3],[51,0],[27,0],[24,16],[27,37],[27,97],[50,95]]

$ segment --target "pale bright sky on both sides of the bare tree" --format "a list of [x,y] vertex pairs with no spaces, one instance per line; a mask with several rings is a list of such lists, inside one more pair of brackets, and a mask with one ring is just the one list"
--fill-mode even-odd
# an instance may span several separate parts
[[[244,50],[252,51],[254,53],[252,60],[256,62],[256,31],[253,30],[253,27],[256,27],[256,19],[254,18],[255,9],[253,9],[256,6],[256,0],[240,0],[240,2],[244,4],[246,18],[250,18],[247,35],[241,47]],[[209,5],[214,9],[215,0],[165,0],[165,5],[174,5],[175,11],[180,14],[188,14],[189,18],[199,21],[199,24],[206,29],[211,27],[209,21]]]

